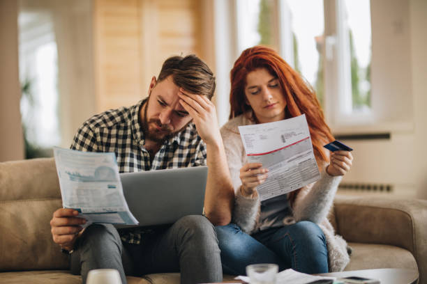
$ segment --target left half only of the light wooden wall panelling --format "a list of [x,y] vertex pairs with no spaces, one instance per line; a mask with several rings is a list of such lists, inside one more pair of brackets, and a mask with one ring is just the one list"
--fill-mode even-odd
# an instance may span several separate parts
[[93,1],[97,111],[134,104],[141,96],[138,0]]

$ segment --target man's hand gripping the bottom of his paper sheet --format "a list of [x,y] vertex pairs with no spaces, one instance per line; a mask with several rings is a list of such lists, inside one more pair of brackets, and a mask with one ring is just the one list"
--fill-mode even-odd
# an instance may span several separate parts
[[73,249],[77,235],[83,230],[80,225],[86,223],[85,219],[76,217],[78,214],[79,212],[76,210],[60,208],[54,212],[53,218],[50,220],[54,242],[68,251]]

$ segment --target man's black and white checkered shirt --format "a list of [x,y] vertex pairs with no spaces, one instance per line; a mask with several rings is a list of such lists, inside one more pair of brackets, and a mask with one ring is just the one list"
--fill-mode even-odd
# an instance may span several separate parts
[[[90,152],[114,152],[120,173],[206,165],[206,145],[197,134],[194,123],[165,141],[151,164],[144,148],[140,109],[146,100],[132,107],[111,109],[86,120],[74,136],[71,149]],[[144,228],[119,230],[121,239],[140,244]]]

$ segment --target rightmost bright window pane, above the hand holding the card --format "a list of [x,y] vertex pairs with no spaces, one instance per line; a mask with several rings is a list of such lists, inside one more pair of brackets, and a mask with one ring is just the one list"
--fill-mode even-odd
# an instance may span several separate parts
[[[366,123],[370,109],[370,0],[336,1],[335,33],[328,36],[335,46],[327,59],[336,65],[338,109],[334,121]],[[331,33],[331,31],[327,31]],[[331,49],[331,47],[327,47]],[[332,69],[331,72],[334,72]],[[331,89],[333,87],[331,86]],[[331,92],[332,93],[332,92]]]

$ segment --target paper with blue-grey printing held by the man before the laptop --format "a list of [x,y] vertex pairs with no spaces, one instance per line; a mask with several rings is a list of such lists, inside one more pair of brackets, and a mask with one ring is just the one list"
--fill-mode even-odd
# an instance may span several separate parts
[[137,225],[123,196],[114,153],[54,147],[62,205],[88,223]]

